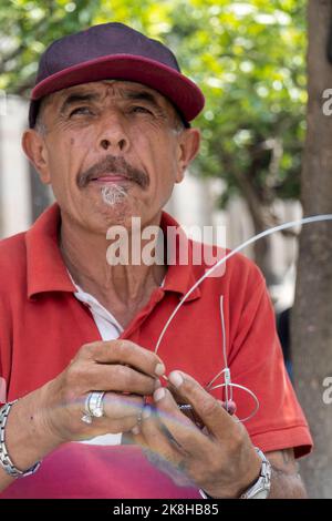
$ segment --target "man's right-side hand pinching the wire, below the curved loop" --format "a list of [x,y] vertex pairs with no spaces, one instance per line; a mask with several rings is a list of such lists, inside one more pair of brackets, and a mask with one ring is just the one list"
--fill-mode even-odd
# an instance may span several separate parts
[[156,415],[143,413],[141,432],[135,439],[163,461],[173,466],[177,482],[179,470],[196,487],[214,498],[238,498],[260,473],[257,454],[245,427],[230,416],[221,402],[206,392],[184,372],[174,371],[169,381],[176,394],[190,403],[205,425],[201,431],[178,409],[167,389],[154,394]]

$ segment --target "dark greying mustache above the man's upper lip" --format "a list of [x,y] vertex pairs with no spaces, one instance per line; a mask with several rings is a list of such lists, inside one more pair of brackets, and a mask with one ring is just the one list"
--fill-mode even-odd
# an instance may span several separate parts
[[101,162],[90,166],[85,172],[82,172],[77,177],[79,188],[84,188],[91,180],[108,172],[123,175],[128,181],[137,183],[142,188],[147,188],[149,185],[148,175],[134,166],[129,165],[124,157],[116,157],[107,155]]

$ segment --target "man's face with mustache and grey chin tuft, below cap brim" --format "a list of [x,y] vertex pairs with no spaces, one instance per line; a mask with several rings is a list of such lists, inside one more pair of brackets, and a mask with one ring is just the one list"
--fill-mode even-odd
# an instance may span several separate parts
[[129,226],[132,216],[155,222],[199,142],[196,130],[176,130],[175,110],[163,95],[125,81],[59,91],[42,122],[44,134],[27,132],[25,152],[34,140],[27,153],[63,216],[103,234],[112,224]]

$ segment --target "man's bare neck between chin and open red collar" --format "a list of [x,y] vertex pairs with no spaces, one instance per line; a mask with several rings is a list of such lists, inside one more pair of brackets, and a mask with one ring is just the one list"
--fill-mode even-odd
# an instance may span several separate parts
[[[129,244],[131,244],[131,235]],[[106,236],[87,233],[62,221],[60,247],[74,282],[93,295],[125,327],[160,286],[165,265],[110,264]],[[142,244],[142,248],[143,248]],[[131,259],[129,251],[129,259]]]

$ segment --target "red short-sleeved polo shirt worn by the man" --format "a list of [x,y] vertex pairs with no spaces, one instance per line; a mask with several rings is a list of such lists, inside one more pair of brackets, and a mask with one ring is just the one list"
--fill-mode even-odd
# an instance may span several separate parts
[[[175,226],[166,213],[162,226]],[[92,315],[73,295],[58,247],[60,212],[46,210],[27,233],[0,242],[0,400],[13,400],[56,377],[83,344],[100,340]],[[154,349],[179,298],[206,266],[170,265],[165,284],[136,315],[122,338]],[[259,398],[257,415],[246,422],[255,446],[264,452],[294,447],[310,451],[312,440],[284,370],[274,316],[257,266],[235,255],[225,274],[190,295],[160,345],[167,372],[180,369],[203,386],[224,368],[219,300],[224,295],[228,364],[232,381]],[[4,385],[6,382],[6,385]],[[216,397],[220,389],[214,391]],[[235,391],[237,415],[253,402]],[[197,489],[176,486],[143,456],[139,447],[66,443],[40,470],[17,480],[2,498],[198,498]]]

